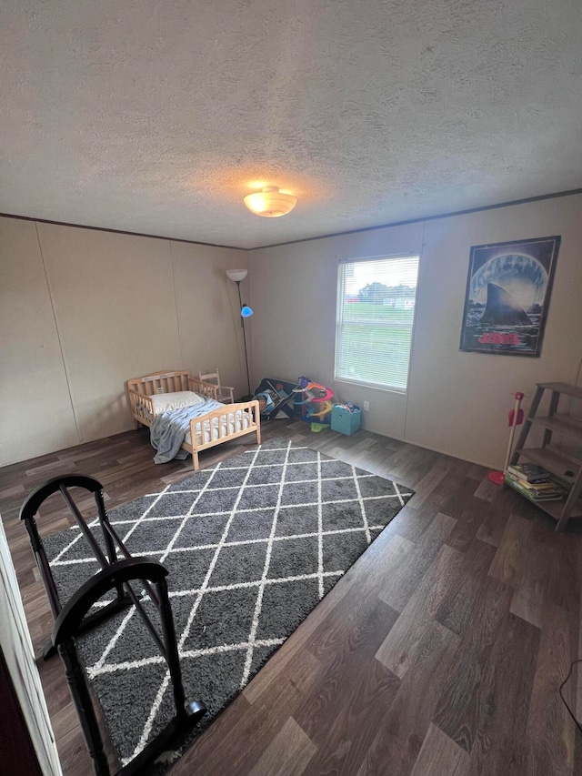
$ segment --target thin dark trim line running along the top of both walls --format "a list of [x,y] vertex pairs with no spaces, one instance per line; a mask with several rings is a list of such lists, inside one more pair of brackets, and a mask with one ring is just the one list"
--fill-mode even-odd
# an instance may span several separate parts
[[47,218],[34,218],[31,216],[16,216],[13,213],[0,213],[2,218],[17,218],[21,221],[35,221],[38,224],[53,224],[56,227],[74,227],[75,229],[92,229],[95,232],[111,232],[115,235],[129,235],[130,237],[150,237],[154,240],[172,240],[176,243],[187,243],[188,245],[206,246],[206,247],[223,247],[230,250],[263,250],[267,247],[279,247],[296,245],[296,243],[306,243],[311,240],[325,240],[328,237],[343,237],[344,235],[356,235],[358,232],[373,232],[377,229],[388,229],[391,227],[404,227],[407,224],[418,224],[423,221],[436,221],[439,218],[452,218],[455,216],[468,216],[471,213],[482,213],[486,210],[497,210],[499,207],[512,207],[514,205],[527,205],[529,202],[540,202],[544,199],[557,199],[558,197],[574,197],[582,194],[582,188],[572,188],[568,191],[557,191],[553,194],[540,194],[537,197],[525,197],[524,199],[513,199],[509,202],[500,202],[497,205],[483,205],[481,207],[469,207],[467,210],[455,210],[451,213],[441,213],[437,216],[425,216],[419,218],[409,218],[406,221],[393,221],[388,224],[380,224],[377,227],[361,227],[359,229],[348,229],[345,232],[332,232],[329,235],[318,235],[316,237],[300,237],[296,240],[286,240],[281,243],[269,243],[264,246],[256,247],[239,247],[239,246],[226,246],[219,243],[205,243],[201,240],[186,240],[184,237],[168,237],[167,235],[146,235],[141,232],[127,232],[124,229],[108,229],[107,227],[89,227],[85,224],[69,224],[66,221],[51,221]]

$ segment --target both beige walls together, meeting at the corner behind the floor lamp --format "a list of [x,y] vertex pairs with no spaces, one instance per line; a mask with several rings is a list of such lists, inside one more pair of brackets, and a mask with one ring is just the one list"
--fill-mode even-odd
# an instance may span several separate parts
[[[562,244],[541,358],[459,352],[470,247],[548,235]],[[0,218],[0,465],[130,428],[124,381],[159,368],[218,367],[246,392],[225,270],[248,263],[253,388],[305,374],[369,401],[366,428],[499,467],[511,394],[580,380],[580,246],[580,196],[250,253]],[[421,254],[407,394],[334,382],[337,262],[403,253]]]

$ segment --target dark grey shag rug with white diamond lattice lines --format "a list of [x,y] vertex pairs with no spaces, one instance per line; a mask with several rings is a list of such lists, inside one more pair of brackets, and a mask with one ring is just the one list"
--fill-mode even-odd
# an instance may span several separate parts
[[[186,700],[208,709],[178,751],[216,719],[412,495],[277,438],[108,510],[127,549],[170,572]],[[63,602],[99,570],[76,527],[45,538],[45,550]],[[148,613],[156,619],[151,603]],[[134,608],[77,645],[125,764],[172,716],[165,663]]]

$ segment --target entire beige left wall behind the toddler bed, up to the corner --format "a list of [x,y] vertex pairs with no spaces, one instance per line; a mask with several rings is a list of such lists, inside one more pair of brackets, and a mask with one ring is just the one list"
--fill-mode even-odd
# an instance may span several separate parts
[[246,256],[1,218],[0,465],[132,428],[124,382],[156,369],[219,367],[246,390],[225,274]]

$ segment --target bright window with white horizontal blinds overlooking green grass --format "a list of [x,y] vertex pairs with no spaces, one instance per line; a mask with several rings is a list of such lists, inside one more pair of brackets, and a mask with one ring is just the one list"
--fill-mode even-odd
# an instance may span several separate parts
[[417,256],[340,262],[337,380],[406,391],[418,262]]

